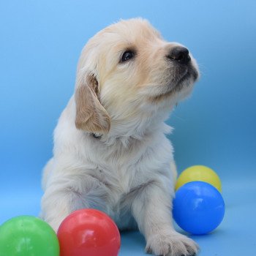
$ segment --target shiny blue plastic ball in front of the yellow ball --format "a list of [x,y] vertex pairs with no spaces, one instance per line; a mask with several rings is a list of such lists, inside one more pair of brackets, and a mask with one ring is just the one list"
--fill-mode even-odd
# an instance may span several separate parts
[[179,227],[194,235],[213,231],[222,222],[224,214],[222,195],[203,181],[184,184],[173,200],[173,218]]

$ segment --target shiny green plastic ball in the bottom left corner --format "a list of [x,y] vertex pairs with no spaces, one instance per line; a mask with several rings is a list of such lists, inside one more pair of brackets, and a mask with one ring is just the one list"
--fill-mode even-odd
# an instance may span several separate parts
[[15,217],[0,226],[0,255],[59,256],[59,241],[42,219]]

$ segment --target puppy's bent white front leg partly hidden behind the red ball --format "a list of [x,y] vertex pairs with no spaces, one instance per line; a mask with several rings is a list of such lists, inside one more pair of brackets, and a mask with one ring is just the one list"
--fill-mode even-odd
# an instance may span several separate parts
[[40,217],[55,231],[69,214],[81,208],[107,211],[108,188],[89,175],[63,175],[53,178],[42,197]]

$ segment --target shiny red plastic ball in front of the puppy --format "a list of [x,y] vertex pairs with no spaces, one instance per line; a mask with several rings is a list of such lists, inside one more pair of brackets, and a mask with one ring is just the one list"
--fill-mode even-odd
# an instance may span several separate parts
[[115,222],[94,209],[74,211],[61,223],[57,236],[61,256],[117,256],[121,245]]

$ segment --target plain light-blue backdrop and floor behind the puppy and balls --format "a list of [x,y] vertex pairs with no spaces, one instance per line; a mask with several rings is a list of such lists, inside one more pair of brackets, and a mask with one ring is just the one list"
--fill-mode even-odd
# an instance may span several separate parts
[[[80,50],[120,18],[143,17],[187,45],[202,78],[168,121],[178,171],[212,167],[227,211],[200,255],[256,253],[256,1],[0,1],[0,224],[37,215],[41,171],[71,96]],[[143,255],[139,233],[120,255]]]

